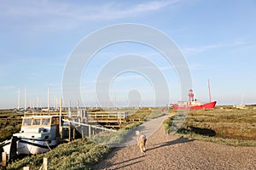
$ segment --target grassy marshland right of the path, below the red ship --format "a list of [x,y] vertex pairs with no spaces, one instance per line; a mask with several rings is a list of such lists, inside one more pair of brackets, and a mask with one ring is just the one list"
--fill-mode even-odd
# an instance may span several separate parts
[[[256,146],[256,110],[228,107],[214,110],[191,110],[177,134],[221,144]],[[224,108],[224,107],[222,107]],[[170,129],[172,117],[164,123]]]

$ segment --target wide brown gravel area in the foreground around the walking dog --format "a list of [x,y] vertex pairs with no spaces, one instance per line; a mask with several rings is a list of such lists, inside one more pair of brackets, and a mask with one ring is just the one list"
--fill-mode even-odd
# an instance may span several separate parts
[[148,138],[146,153],[137,145],[114,149],[95,169],[255,169],[256,147],[234,147],[178,138],[163,126]]

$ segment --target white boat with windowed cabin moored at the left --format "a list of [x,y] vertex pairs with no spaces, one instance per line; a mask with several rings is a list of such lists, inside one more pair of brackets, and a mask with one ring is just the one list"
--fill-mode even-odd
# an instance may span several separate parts
[[60,116],[26,116],[20,133],[2,143],[9,158],[20,154],[38,154],[51,150],[61,142]]

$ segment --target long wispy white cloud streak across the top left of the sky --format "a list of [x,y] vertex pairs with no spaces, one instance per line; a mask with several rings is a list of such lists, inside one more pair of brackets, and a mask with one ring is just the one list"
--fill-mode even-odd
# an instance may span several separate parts
[[[25,20],[29,19],[38,25],[47,24],[51,27],[55,24],[63,24],[70,21],[95,21],[95,20],[116,20],[126,17],[135,17],[140,14],[154,12],[161,8],[176,5],[180,0],[151,1],[137,4],[129,3],[67,3],[52,1],[6,1],[1,4],[0,18]],[[19,22],[18,22],[19,23]],[[16,23],[16,24],[18,24]],[[66,26],[65,25],[65,26]],[[61,25],[63,26],[63,25]]]

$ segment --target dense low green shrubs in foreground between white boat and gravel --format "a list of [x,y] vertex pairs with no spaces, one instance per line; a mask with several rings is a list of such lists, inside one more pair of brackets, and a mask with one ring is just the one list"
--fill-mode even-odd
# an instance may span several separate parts
[[50,169],[92,169],[97,161],[102,160],[104,156],[110,153],[108,146],[95,144],[88,140],[77,139],[68,144],[60,144],[54,150],[37,156],[26,156],[9,164],[7,167],[11,170],[18,170],[22,167],[31,169],[40,169],[43,164],[43,158],[49,158]]

